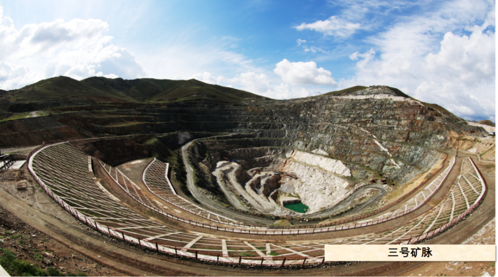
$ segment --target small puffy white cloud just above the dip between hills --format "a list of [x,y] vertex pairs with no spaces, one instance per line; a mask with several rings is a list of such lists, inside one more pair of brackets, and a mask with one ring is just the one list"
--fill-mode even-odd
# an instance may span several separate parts
[[279,62],[273,70],[286,84],[292,85],[337,85],[332,73],[318,68],[315,62]]

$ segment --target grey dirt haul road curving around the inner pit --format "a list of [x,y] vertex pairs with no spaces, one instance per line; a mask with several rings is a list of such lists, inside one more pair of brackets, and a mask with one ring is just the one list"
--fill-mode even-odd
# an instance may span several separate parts
[[[216,138],[229,137],[229,136],[232,136],[232,135],[217,136],[217,137],[211,137],[211,138],[208,138],[208,139],[216,139]],[[198,188],[194,184],[194,170],[190,166],[190,163],[188,161],[188,156],[187,156],[187,149],[188,149],[188,147],[190,147],[190,145],[192,143],[194,143],[196,140],[201,140],[201,139],[192,140],[189,143],[185,144],[182,147],[182,149],[181,149],[182,150],[183,163],[185,164],[185,168],[187,170],[187,186],[188,186],[188,189],[190,190],[190,192],[192,193],[192,195],[194,196],[194,198],[197,199],[197,201],[199,201],[199,203],[202,203],[207,208],[212,209],[213,211],[225,213],[225,214],[231,216],[233,219],[243,219],[243,220],[247,220],[249,222],[255,222],[255,223],[264,224],[264,225],[273,224],[274,221],[272,221],[272,220],[267,220],[267,219],[263,219],[263,218],[257,218],[257,217],[247,216],[247,215],[244,215],[244,214],[232,211],[232,210],[230,210],[230,209],[228,209],[226,207],[223,207],[223,206],[221,206],[221,205],[219,205],[217,203],[214,203],[211,199],[209,199],[209,197],[207,197],[206,195],[204,195],[202,192],[200,192],[198,190]],[[387,190],[385,188],[383,188],[382,186],[380,186],[380,185],[369,185],[369,186],[365,186],[365,187],[363,187],[363,188],[355,191],[348,198],[346,198],[345,200],[343,200],[341,203],[339,203],[338,205],[336,205],[332,209],[329,209],[329,210],[326,210],[326,211],[321,211],[321,212],[314,213],[314,214],[311,214],[311,215],[306,215],[306,216],[303,216],[303,217],[304,218],[308,218],[308,219],[313,219],[313,218],[317,218],[317,217],[331,215],[331,214],[333,214],[333,213],[335,213],[335,212],[337,212],[339,210],[342,210],[342,209],[350,206],[351,203],[353,202],[353,200],[360,193],[362,193],[364,190],[367,190],[367,189],[376,189],[378,191],[378,193],[377,193],[377,195],[375,197],[373,197],[372,199],[370,199],[366,203],[360,205],[359,207],[356,207],[354,210],[348,212],[347,214],[354,214],[354,213],[358,213],[358,212],[363,211],[364,209],[366,209],[367,207],[369,207],[370,205],[372,205],[373,203],[375,203],[378,199],[382,198],[387,193]],[[230,195],[230,194],[228,194],[228,195]],[[238,201],[240,203],[240,201],[238,199],[235,199],[234,201]],[[298,225],[308,225],[308,224],[313,224],[313,223],[300,223]]]

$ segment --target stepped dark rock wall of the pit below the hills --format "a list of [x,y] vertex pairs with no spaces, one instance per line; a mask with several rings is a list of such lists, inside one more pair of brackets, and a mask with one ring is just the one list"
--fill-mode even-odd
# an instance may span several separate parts
[[[0,123],[0,141],[8,146],[41,144],[62,138],[122,135],[140,138],[145,135],[143,138],[147,139],[135,139],[136,144],[130,144],[136,146],[130,153],[164,159],[169,151],[161,151],[160,146],[173,147],[156,134],[180,130],[189,134],[252,134],[246,139],[220,139],[194,145],[198,151],[192,150],[197,153],[192,154],[191,163],[198,167],[198,184],[213,193],[219,191],[208,172],[223,155],[251,156],[241,158],[241,165],[247,168],[257,162],[261,165],[277,163],[289,150],[319,151],[325,157],[343,162],[352,172],[348,179],[351,184],[381,176],[403,184],[443,158],[436,149],[450,149],[458,142],[459,134],[479,129],[466,126],[458,118],[438,113],[418,101],[401,97],[387,87],[369,88],[354,95],[288,101],[114,103],[62,108],[57,112],[66,113]],[[149,144],[154,138],[158,141]],[[257,157],[261,152],[254,149],[260,147],[275,151],[273,157]],[[107,158],[105,161],[112,165],[131,157],[131,154],[126,158],[113,157],[112,153],[104,154],[103,148],[98,149],[102,154],[89,152],[104,160]],[[139,153],[143,148],[149,153]],[[224,150],[220,151],[221,148]]]

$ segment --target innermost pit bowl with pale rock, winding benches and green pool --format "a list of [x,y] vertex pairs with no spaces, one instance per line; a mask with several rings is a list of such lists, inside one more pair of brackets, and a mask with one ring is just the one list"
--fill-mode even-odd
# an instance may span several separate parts
[[226,199],[242,211],[294,218],[323,217],[357,206],[355,212],[361,212],[389,191],[386,185],[353,184],[349,168],[330,157],[285,149],[264,156],[251,151],[264,154],[261,149],[236,149],[231,154],[243,159],[225,157],[211,172]]

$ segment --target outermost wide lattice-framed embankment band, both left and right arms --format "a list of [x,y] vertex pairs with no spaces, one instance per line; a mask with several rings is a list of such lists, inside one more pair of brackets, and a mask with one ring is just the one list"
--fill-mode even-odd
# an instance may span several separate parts
[[[178,232],[139,216],[122,206],[95,182],[89,167],[89,157],[68,143],[51,145],[39,150],[31,157],[29,168],[47,193],[66,210],[101,232],[124,238],[126,241],[166,253],[221,263],[249,265],[263,263],[263,265],[278,266],[285,263],[300,265],[323,261],[321,258],[323,242],[282,243],[279,240],[268,242],[219,239],[209,234]],[[118,175],[117,179],[127,187],[130,185],[124,176]],[[432,209],[419,221],[409,223],[403,227],[404,229],[386,235],[356,239],[355,242],[404,243],[403,240],[413,238],[414,235],[434,234],[435,231],[431,230],[442,230],[441,228],[448,224],[455,224],[463,215],[475,209],[483,198],[485,190],[486,186],[479,172],[469,160],[464,162],[462,177],[454,185],[451,195],[440,206]],[[134,193],[140,195],[138,192]],[[470,205],[472,206],[469,209]],[[208,249],[209,251],[206,251]],[[256,255],[254,253],[267,257],[247,257]],[[282,260],[284,257],[285,262]]]

